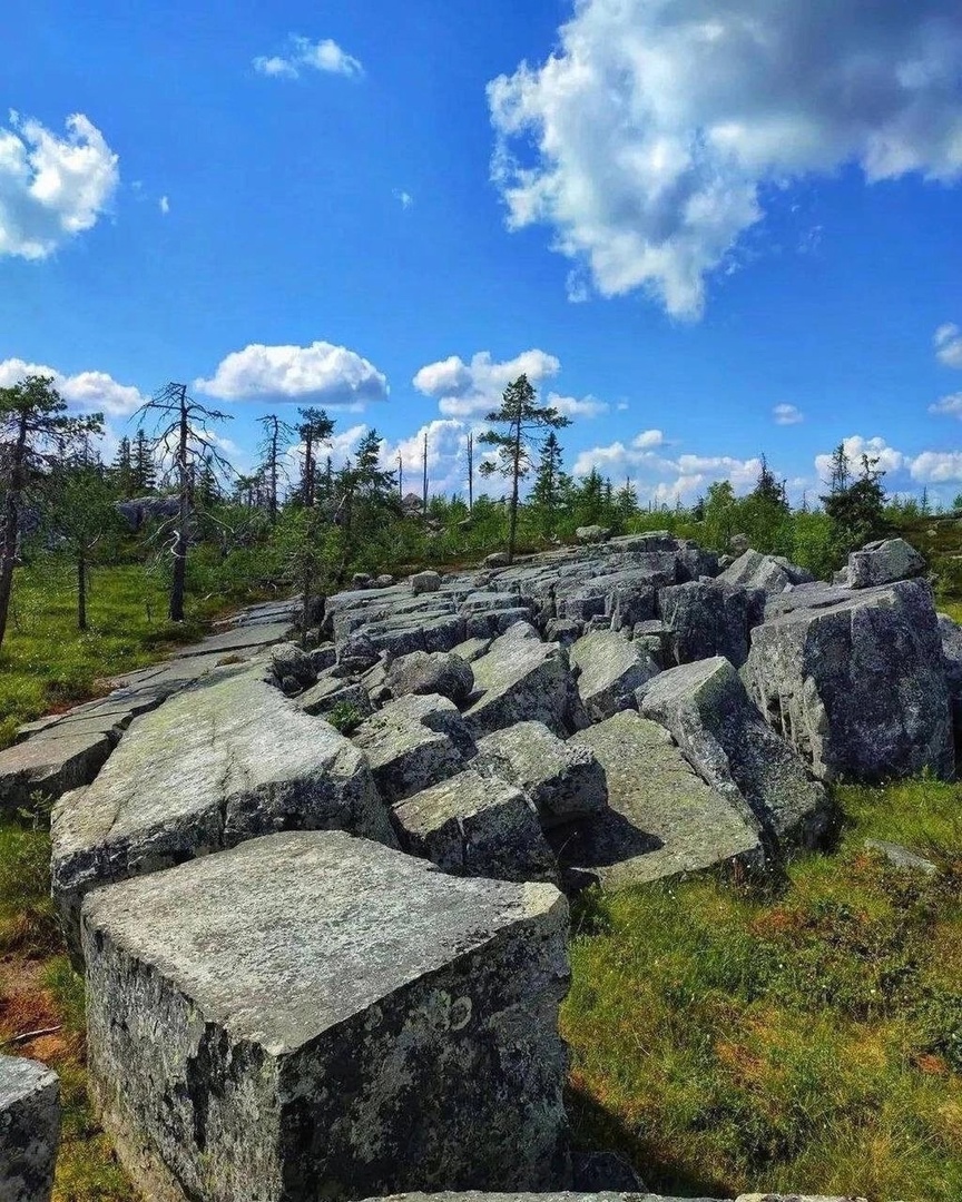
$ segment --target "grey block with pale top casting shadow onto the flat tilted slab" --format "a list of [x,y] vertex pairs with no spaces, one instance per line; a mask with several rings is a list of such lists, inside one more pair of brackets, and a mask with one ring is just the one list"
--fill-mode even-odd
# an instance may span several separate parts
[[542,722],[486,734],[474,764],[524,790],[546,829],[607,805],[605,769],[592,750],[565,743]]

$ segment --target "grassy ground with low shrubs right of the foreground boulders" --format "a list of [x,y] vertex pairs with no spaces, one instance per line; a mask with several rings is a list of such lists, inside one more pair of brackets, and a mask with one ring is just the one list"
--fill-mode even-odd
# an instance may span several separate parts
[[778,895],[701,877],[576,909],[576,1137],[652,1188],[962,1197],[962,787],[839,802],[838,850],[797,859]]

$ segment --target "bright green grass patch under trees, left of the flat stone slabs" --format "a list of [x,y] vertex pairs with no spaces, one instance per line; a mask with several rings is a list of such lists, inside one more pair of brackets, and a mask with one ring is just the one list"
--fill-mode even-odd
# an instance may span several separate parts
[[[234,597],[230,599],[231,601]],[[167,620],[164,581],[139,565],[95,569],[89,630],[77,630],[77,594],[67,564],[18,569],[0,648],[0,748],[19,725],[103,691],[103,678],[152,664],[200,637],[226,599],[189,597],[188,620]]]

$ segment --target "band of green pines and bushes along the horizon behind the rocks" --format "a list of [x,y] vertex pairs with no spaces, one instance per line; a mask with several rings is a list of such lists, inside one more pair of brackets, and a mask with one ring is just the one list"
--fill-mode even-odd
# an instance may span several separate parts
[[[277,413],[260,418],[260,462],[250,474],[237,472],[218,447],[215,428],[230,415],[196,401],[184,385],[166,385],[135,417],[136,433],[121,438],[106,464],[101,413],[69,413],[49,377],[0,388],[0,644],[16,566],[43,554],[73,565],[79,630],[91,569],[120,560],[165,575],[172,621],[184,619],[191,585],[225,595],[290,587],[303,596],[307,625],[311,600],[354,572],[457,564],[495,549],[513,558],[571,540],[580,526],[669,529],[723,552],[743,534],[756,549],[827,576],[854,547],[926,512],[925,496],[889,499],[878,462],[862,456],[853,464],[843,445],[818,507],[792,508],[762,457],[744,496],[723,481],[691,506],[646,508],[630,478],[616,488],[595,469],[577,480],[564,471],[558,430],[570,419],[540,405],[524,375],[505,388],[479,438],[487,448],[480,476],[506,484],[498,500],[470,490],[467,502],[458,493],[429,496],[424,472],[421,504],[412,505],[399,471],[382,465],[374,429],[335,468],[334,421],[322,409],[299,409],[293,423]],[[171,504],[131,531],[118,502],[144,498]]]

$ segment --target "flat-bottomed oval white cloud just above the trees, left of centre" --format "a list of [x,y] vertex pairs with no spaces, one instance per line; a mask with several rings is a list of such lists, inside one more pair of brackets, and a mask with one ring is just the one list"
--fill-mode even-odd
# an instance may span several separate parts
[[251,343],[218,364],[210,380],[194,387],[220,400],[295,400],[358,411],[385,400],[387,377],[356,351],[332,343],[265,346]]

